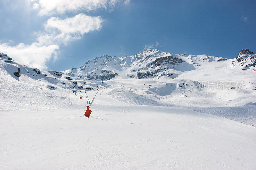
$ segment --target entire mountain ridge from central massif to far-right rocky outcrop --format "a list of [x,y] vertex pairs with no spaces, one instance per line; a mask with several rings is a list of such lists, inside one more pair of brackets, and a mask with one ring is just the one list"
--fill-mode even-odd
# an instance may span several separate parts
[[105,80],[116,76],[121,78],[176,78],[184,71],[200,68],[205,62],[228,62],[230,67],[241,70],[256,70],[255,55],[249,49],[242,49],[235,59],[209,55],[187,55],[145,50],[136,55],[116,57],[103,55],[86,62],[80,68],[62,71],[63,75],[88,80]]

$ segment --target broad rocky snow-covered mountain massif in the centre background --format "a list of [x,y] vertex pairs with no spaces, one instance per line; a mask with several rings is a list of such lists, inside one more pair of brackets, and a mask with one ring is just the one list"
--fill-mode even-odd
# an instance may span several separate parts
[[79,69],[70,69],[62,73],[89,80],[104,80],[122,76],[122,78],[175,78],[180,72],[193,70],[194,66],[173,53],[147,49],[133,56],[102,55],[86,62]]

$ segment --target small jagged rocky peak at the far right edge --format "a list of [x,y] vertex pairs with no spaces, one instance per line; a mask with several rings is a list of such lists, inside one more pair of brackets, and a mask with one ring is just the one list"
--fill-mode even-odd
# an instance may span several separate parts
[[233,61],[233,65],[239,65],[242,70],[256,71],[256,55],[248,48],[242,49],[236,56],[236,60]]

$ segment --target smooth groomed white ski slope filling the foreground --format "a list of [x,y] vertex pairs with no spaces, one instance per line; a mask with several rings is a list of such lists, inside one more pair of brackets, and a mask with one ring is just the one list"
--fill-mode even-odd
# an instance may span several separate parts
[[255,127],[182,107],[128,104],[112,90],[100,90],[89,118],[86,100],[74,93],[58,109],[1,111],[0,169],[256,168]]

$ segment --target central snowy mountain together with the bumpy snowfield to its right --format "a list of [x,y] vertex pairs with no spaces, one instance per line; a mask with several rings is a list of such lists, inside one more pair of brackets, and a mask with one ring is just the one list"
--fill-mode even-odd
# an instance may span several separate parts
[[[255,55],[248,49],[242,49],[236,59],[148,49],[127,57],[97,57],[79,69],[72,68],[62,74],[96,81],[113,78],[129,82],[148,78],[157,83],[133,92],[165,104],[235,107],[255,102],[254,68]],[[186,88],[188,80],[193,83],[191,89]],[[136,89],[127,85],[122,90],[130,92],[131,88]]]

